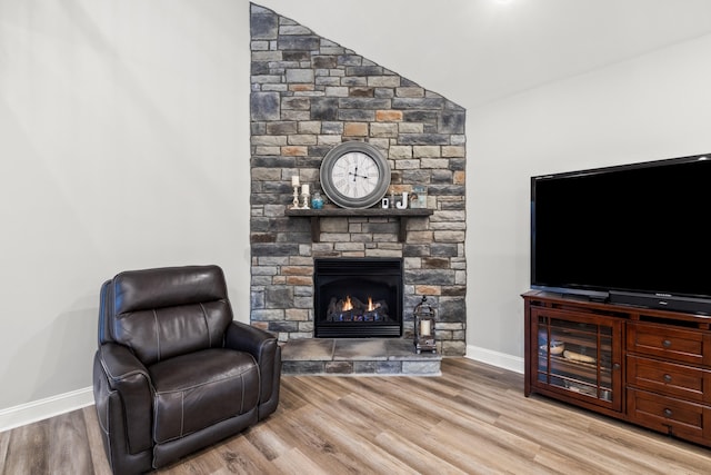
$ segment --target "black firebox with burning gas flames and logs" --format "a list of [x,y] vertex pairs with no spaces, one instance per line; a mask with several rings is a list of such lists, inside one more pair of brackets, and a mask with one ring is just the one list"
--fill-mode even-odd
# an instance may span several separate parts
[[402,259],[316,259],[313,283],[317,338],[402,335]]

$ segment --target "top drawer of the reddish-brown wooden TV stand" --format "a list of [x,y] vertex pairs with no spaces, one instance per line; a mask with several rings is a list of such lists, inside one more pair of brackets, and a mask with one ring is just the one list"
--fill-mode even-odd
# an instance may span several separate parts
[[711,333],[630,321],[627,350],[693,365],[710,365]]

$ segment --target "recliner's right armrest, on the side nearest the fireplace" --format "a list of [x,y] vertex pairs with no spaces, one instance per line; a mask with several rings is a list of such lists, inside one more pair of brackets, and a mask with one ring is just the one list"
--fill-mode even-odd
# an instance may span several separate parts
[[224,346],[251,354],[261,376],[259,419],[277,409],[281,378],[281,347],[272,334],[241,321],[232,321],[227,328]]

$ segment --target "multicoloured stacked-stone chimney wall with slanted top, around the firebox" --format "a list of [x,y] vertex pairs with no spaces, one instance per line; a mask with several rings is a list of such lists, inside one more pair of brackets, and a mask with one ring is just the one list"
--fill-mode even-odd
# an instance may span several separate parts
[[[323,337],[333,328],[318,324],[314,265],[393,259],[401,264],[401,294],[387,306],[400,307],[397,331],[412,337],[412,309],[427,295],[438,309],[440,354],[463,355],[465,110],[294,20],[250,8],[251,324],[281,342]],[[431,214],[339,214],[327,204],[318,226],[314,217],[290,214],[291,177],[320,190],[321,160],[349,140],[387,157],[389,194],[424,187]],[[363,319],[375,318],[364,311]],[[343,328],[353,323],[361,321]]]

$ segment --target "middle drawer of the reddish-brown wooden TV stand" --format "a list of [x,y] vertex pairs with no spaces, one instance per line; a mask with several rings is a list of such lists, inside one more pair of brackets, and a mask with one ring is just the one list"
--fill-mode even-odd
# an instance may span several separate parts
[[627,384],[697,403],[711,402],[711,372],[691,366],[628,356]]

